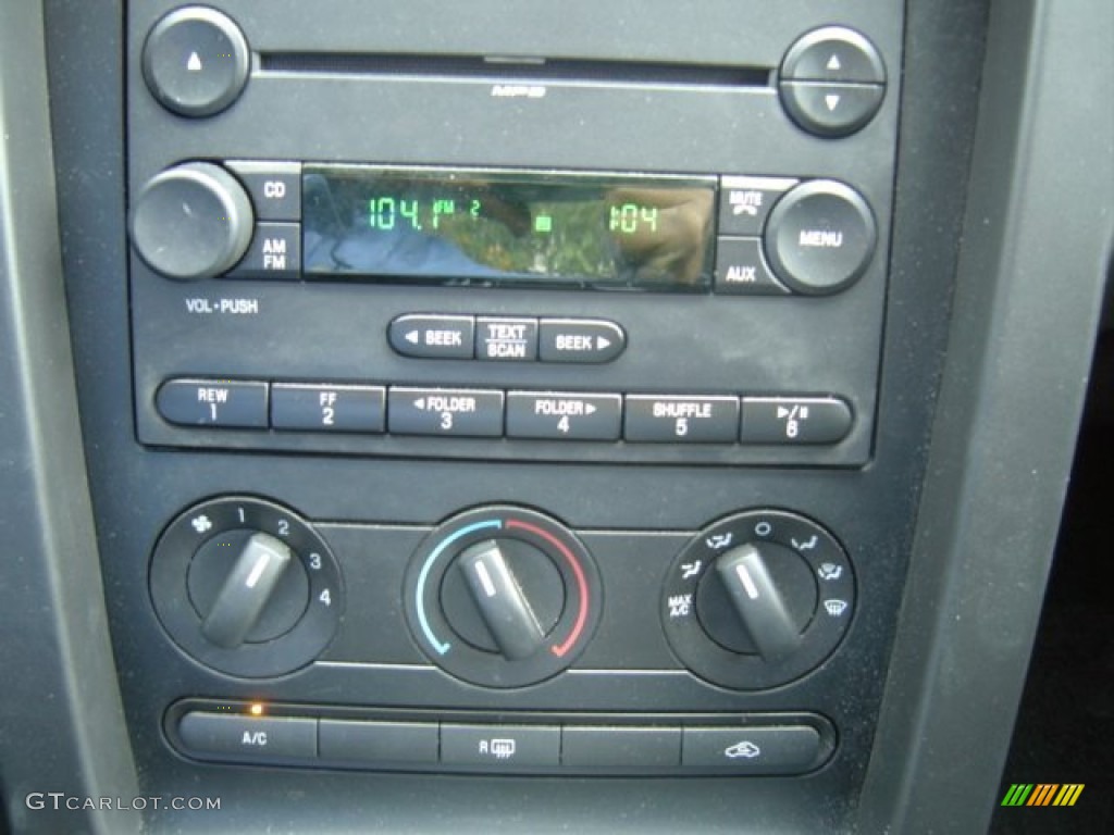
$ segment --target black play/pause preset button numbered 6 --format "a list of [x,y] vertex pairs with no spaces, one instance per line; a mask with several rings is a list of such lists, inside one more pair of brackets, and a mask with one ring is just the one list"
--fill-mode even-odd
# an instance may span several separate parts
[[853,422],[839,397],[743,397],[743,443],[837,443]]

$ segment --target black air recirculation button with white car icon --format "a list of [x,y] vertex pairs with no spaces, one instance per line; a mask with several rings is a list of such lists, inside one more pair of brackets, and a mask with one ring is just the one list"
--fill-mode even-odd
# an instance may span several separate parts
[[809,725],[685,728],[681,766],[693,772],[801,774],[820,759],[820,734]]

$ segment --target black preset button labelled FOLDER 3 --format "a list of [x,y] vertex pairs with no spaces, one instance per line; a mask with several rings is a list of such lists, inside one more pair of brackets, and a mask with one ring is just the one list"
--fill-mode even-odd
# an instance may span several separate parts
[[400,435],[499,438],[502,402],[497,391],[392,387],[388,425]]

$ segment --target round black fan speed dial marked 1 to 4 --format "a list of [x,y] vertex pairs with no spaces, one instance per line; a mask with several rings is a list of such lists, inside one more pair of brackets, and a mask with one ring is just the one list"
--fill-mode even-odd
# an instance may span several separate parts
[[325,648],[342,609],[340,570],[310,524],[273,502],[226,497],[167,525],[150,564],[163,626],[202,664],[278,676]]

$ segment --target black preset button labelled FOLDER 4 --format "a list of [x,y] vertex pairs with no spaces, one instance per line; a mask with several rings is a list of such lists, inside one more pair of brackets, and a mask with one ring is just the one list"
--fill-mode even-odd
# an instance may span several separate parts
[[507,436],[617,441],[623,423],[618,394],[508,392]]

